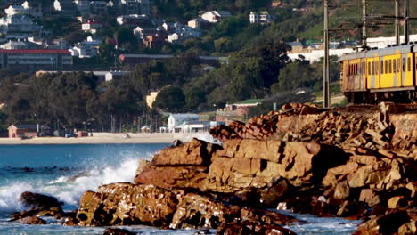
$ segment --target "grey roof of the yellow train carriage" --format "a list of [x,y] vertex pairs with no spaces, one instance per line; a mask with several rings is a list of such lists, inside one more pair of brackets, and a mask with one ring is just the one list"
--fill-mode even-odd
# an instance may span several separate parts
[[370,58],[375,56],[385,56],[385,55],[391,55],[396,53],[413,53],[414,45],[396,45],[396,46],[389,46],[386,48],[380,48],[380,49],[372,49],[368,51],[363,52],[357,52],[357,53],[347,53],[340,57],[341,61],[345,60],[355,60],[359,58]]

